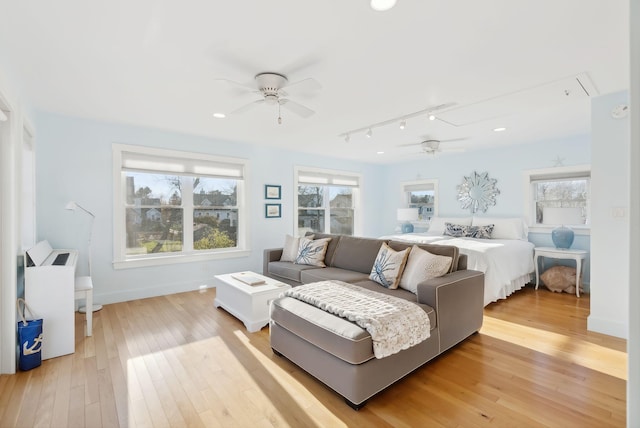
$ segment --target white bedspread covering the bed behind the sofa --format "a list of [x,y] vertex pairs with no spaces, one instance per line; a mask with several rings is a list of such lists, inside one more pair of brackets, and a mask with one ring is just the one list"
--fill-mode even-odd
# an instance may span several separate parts
[[531,280],[534,271],[533,248],[519,239],[475,239],[427,233],[382,236],[421,244],[454,245],[467,256],[467,268],[484,272],[484,305],[506,299]]

